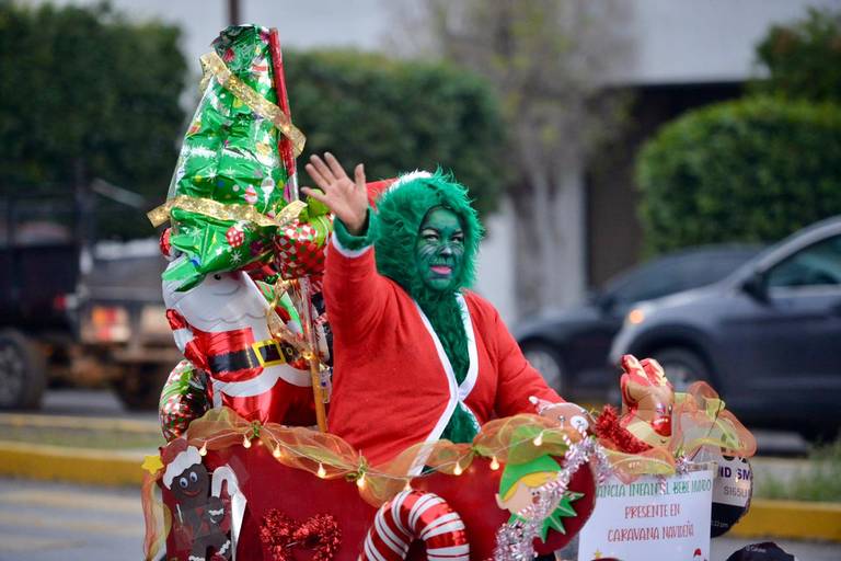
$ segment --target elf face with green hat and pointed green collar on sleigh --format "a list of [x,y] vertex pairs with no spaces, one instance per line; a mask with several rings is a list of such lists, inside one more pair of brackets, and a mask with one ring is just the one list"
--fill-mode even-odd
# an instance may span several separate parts
[[[540,500],[540,488],[557,478],[561,466],[550,456],[538,456],[531,461],[522,463],[508,463],[499,480],[499,493],[496,495],[496,504],[499,508],[511,513],[508,524],[517,519],[523,519],[519,513],[530,506],[534,506]],[[540,527],[540,539],[546,541],[550,528],[566,534],[561,518],[576,516],[575,508],[571,504],[584,496],[583,493],[566,491],[557,504],[557,507],[543,519]]]

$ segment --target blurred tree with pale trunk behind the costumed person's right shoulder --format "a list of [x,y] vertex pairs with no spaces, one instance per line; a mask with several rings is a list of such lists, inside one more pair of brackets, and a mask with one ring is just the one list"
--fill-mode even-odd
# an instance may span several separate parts
[[580,178],[585,159],[617,130],[625,106],[602,93],[631,50],[621,33],[626,7],[614,0],[396,5],[396,46],[476,71],[499,95],[509,131],[506,191],[520,218],[515,231],[520,311],[579,298]]

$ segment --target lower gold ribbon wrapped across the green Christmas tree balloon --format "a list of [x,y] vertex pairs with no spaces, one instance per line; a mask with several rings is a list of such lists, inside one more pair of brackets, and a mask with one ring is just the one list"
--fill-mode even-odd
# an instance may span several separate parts
[[169,199],[163,205],[153,208],[147,213],[149,221],[152,226],[161,226],[170,219],[170,211],[173,208],[180,210],[187,210],[189,213],[196,213],[199,215],[209,216],[218,220],[247,220],[256,224],[257,226],[286,226],[288,222],[298,218],[307,207],[307,204],[302,201],[293,201],[286,205],[280,213],[274,218],[262,214],[260,210],[251,205],[226,205],[214,201],[211,198],[195,198],[186,195],[178,195]]

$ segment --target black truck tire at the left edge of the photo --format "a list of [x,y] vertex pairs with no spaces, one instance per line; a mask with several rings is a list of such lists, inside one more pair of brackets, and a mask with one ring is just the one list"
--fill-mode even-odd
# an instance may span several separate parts
[[0,330],[0,409],[38,409],[46,383],[35,344],[20,331]]

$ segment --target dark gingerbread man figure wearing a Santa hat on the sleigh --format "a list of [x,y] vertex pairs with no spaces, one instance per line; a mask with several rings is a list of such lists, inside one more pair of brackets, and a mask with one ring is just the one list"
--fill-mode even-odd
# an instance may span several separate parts
[[175,497],[175,536],[181,543],[189,545],[188,559],[205,561],[208,551],[214,561],[230,559],[230,496],[209,495],[210,477],[195,446],[175,440],[166,448],[166,456],[163,484]]

